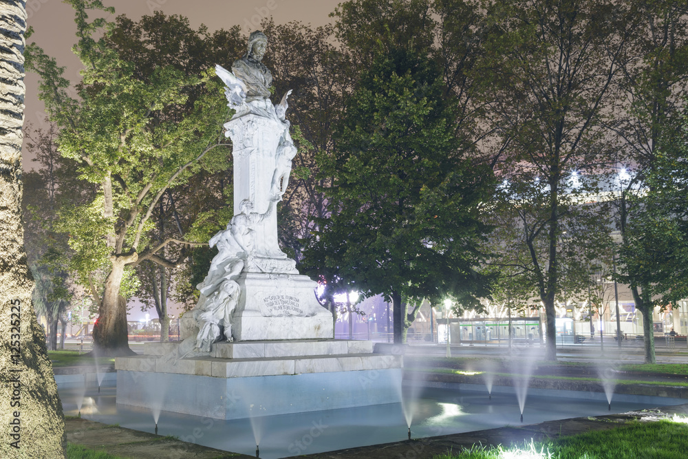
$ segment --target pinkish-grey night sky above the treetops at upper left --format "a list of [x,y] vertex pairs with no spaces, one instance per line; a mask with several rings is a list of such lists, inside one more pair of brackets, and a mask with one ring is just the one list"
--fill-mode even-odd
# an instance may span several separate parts
[[[244,33],[248,28],[258,29],[262,17],[272,16],[276,23],[301,21],[311,25],[330,23],[330,12],[341,0],[104,0],[105,6],[114,6],[116,14],[138,20],[144,15],[160,10],[167,15],[180,14],[189,18],[191,27],[205,24],[213,31],[240,25]],[[57,58],[58,65],[67,67],[65,77],[79,81],[80,62],[72,54],[76,43],[76,25],[72,7],[60,0],[32,0],[26,5],[28,25],[34,34],[28,40],[35,41],[49,55]],[[268,52],[270,52],[268,48]],[[237,56],[239,58],[240,56]],[[45,119],[45,107],[38,100],[38,77],[28,73],[26,83],[25,123],[40,127]],[[24,152],[24,169],[33,169],[34,164]]]

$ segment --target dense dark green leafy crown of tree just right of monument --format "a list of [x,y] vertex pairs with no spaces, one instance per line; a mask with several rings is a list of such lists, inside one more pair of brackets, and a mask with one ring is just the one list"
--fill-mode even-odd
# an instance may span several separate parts
[[305,263],[364,295],[453,295],[466,306],[487,295],[475,266],[488,228],[476,208],[491,173],[462,158],[449,128],[454,108],[432,61],[399,48],[376,55],[336,131],[335,154],[319,156],[321,175],[333,178],[324,189],[332,213]]

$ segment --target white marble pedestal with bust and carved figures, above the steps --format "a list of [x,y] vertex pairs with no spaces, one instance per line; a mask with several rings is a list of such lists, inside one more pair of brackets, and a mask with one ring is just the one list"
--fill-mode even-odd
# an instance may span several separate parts
[[215,66],[235,111],[224,124],[233,143],[234,216],[210,239],[218,253],[197,286],[193,320],[183,325],[186,339],[170,359],[207,355],[223,339],[332,337],[332,314],[316,301],[316,284],[299,275],[296,261],[277,243],[277,202],[289,184],[297,147],[286,119],[291,91],[277,106],[270,100],[272,74],[261,62],[267,46],[263,32],[252,32],[232,72]]

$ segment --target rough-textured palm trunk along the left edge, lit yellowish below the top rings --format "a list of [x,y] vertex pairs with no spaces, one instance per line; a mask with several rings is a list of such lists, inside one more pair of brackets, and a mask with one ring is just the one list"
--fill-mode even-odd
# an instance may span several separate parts
[[65,418],[31,302],[21,224],[24,1],[0,3],[0,410],[3,458],[64,458]]

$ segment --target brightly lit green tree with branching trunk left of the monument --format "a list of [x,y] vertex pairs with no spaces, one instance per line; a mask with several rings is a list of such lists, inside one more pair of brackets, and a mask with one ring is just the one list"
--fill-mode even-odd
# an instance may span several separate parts
[[[226,158],[220,127],[228,115],[214,72],[187,74],[173,65],[143,72],[111,44],[115,25],[89,12],[111,8],[99,0],[71,0],[78,43],[74,52],[85,69],[78,97],[54,59],[36,45],[30,65],[41,76],[41,98],[61,128],[63,156],[80,162],[80,178],[97,184],[94,200],[63,213],[62,230],[75,251],[72,269],[99,305],[94,341],[98,352],[127,352],[126,299],[120,286],[136,286],[133,266],[142,261],[174,268],[161,256],[178,237],[152,239],[151,216],[168,189],[183,184],[195,170],[212,169]],[[101,270],[101,293],[93,273]],[[124,284],[122,284],[124,282]]]

